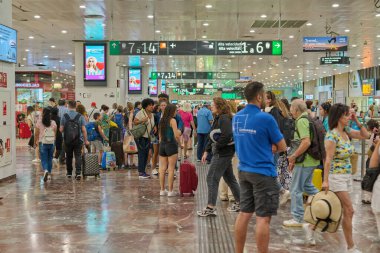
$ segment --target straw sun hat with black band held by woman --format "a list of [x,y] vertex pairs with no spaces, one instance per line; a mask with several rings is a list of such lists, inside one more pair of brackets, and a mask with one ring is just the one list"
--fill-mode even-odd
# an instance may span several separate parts
[[305,208],[304,220],[322,232],[335,233],[341,218],[342,204],[332,191],[317,193]]

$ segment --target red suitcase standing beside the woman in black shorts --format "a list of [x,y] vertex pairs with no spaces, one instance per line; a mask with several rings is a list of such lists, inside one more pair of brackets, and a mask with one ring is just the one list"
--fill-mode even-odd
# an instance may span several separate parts
[[194,164],[185,161],[179,167],[179,193],[181,197],[184,194],[194,196],[198,187],[198,175]]

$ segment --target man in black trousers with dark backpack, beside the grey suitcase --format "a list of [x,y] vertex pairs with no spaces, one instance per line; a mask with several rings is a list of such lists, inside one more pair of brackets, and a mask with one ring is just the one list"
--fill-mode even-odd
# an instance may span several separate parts
[[67,178],[72,177],[73,155],[75,156],[75,179],[81,179],[82,147],[89,145],[86,131],[86,120],[75,111],[76,102],[69,101],[69,111],[61,119],[60,131],[64,134]]

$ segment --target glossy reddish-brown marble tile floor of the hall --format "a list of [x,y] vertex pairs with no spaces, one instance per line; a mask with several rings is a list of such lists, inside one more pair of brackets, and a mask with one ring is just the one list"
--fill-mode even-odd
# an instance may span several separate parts
[[[65,168],[42,182],[32,153],[17,149],[17,180],[0,185],[0,252],[233,252],[236,213],[218,202],[216,218],[198,218],[205,207],[206,167],[198,167],[196,197],[160,197],[158,179],[139,180],[136,170],[106,172],[101,179],[76,182]],[[178,180],[176,180],[177,187]],[[354,239],[363,252],[380,252],[376,223],[369,206],[360,202],[359,183],[353,194]],[[302,229],[281,224],[290,218],[289,204],[273,217],[270,252],[346,252],[343,233],[318,234],[317,246],[303,243]],[[252,220],[246,252],[256,252]]]

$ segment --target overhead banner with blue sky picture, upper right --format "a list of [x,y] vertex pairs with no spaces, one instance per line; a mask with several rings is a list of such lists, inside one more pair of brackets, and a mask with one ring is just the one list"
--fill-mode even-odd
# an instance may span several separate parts
[[331,52],[331,51],[347,51],[348,37],[304,37],[304,52]]

